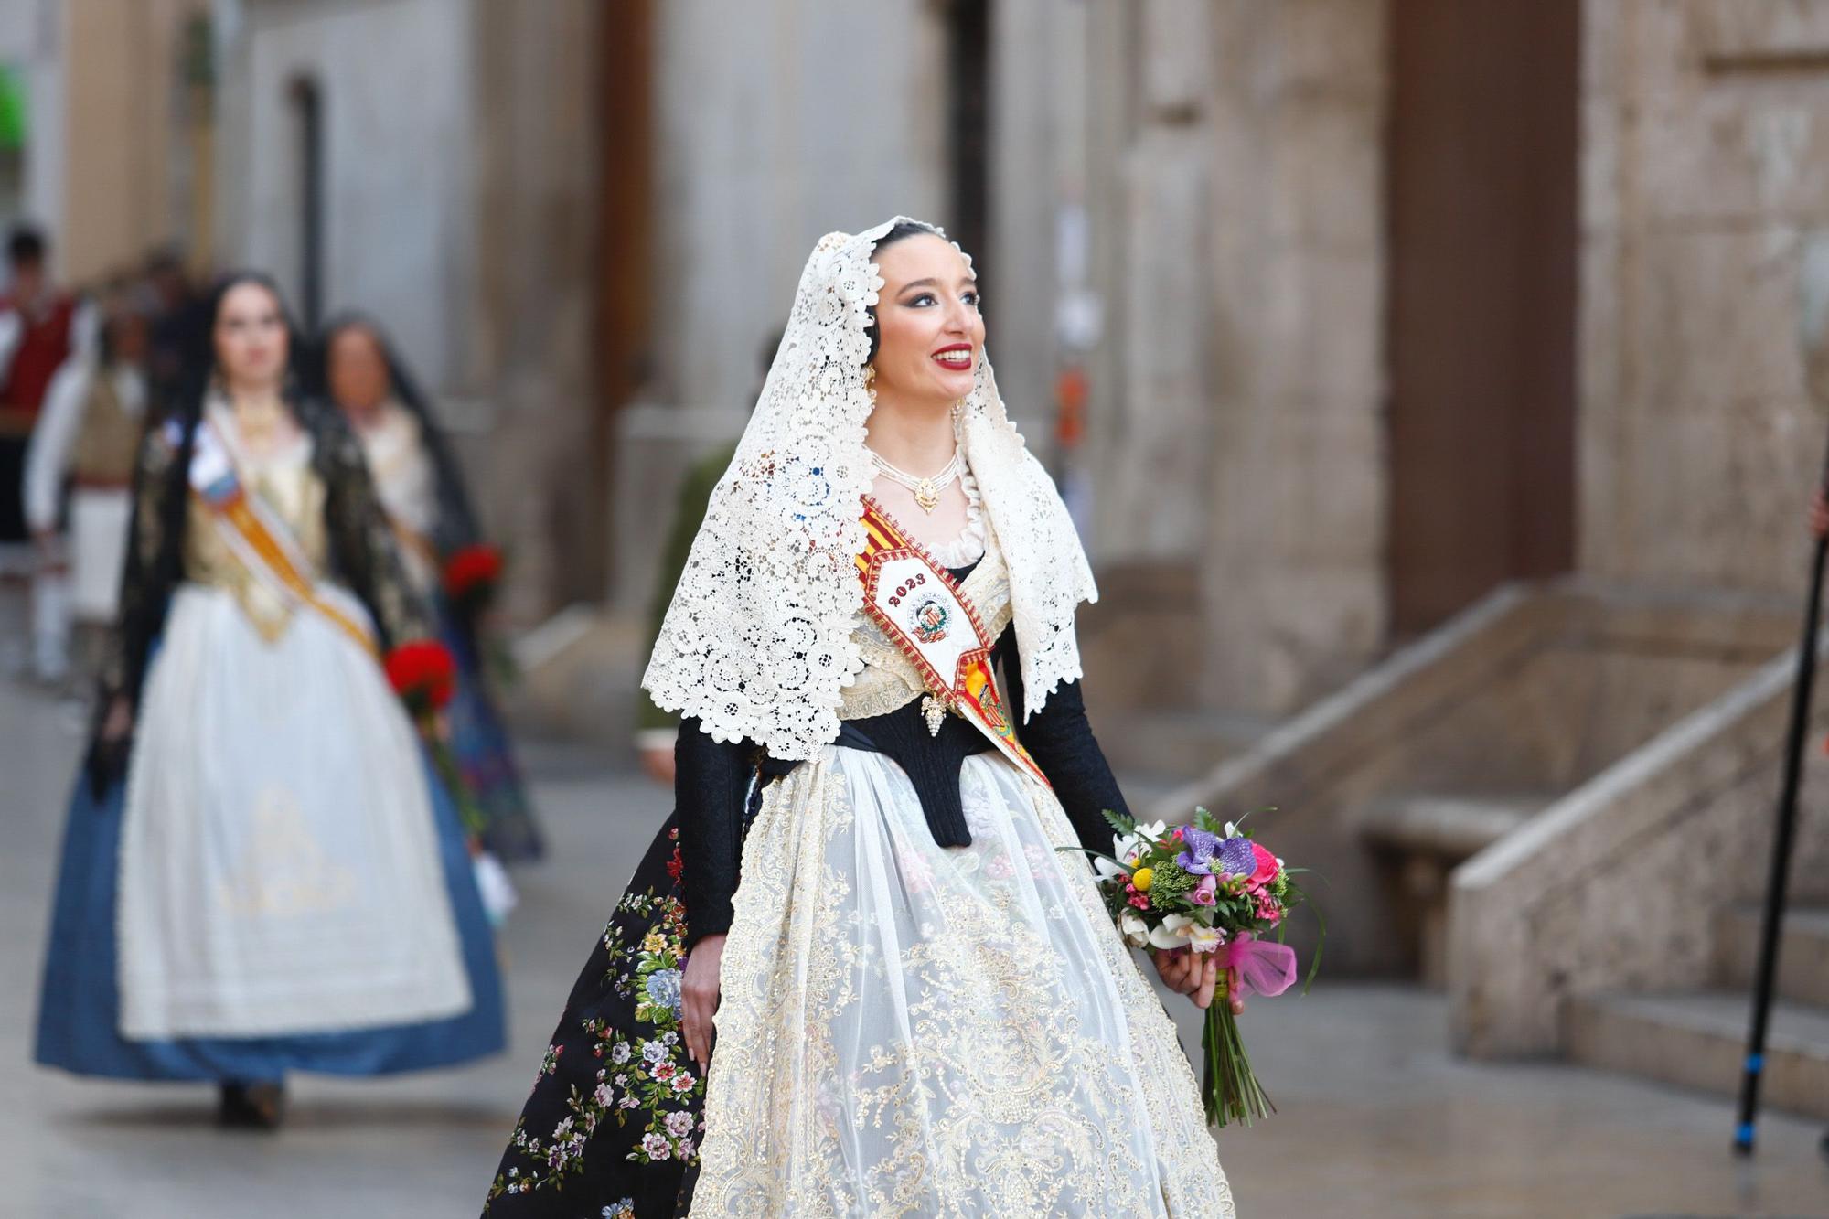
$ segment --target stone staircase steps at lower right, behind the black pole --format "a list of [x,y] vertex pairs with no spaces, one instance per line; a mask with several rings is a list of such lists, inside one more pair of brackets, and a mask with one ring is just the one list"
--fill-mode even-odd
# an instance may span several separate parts
[[[1738,1096],[1758,939],[1759,910],[1741,906],[1719,930],[1712,988],[1571,998],[1569,1058]],[[1829,1120],[1829,906],[1787,913],[1778,961],[1761,1104]]]

